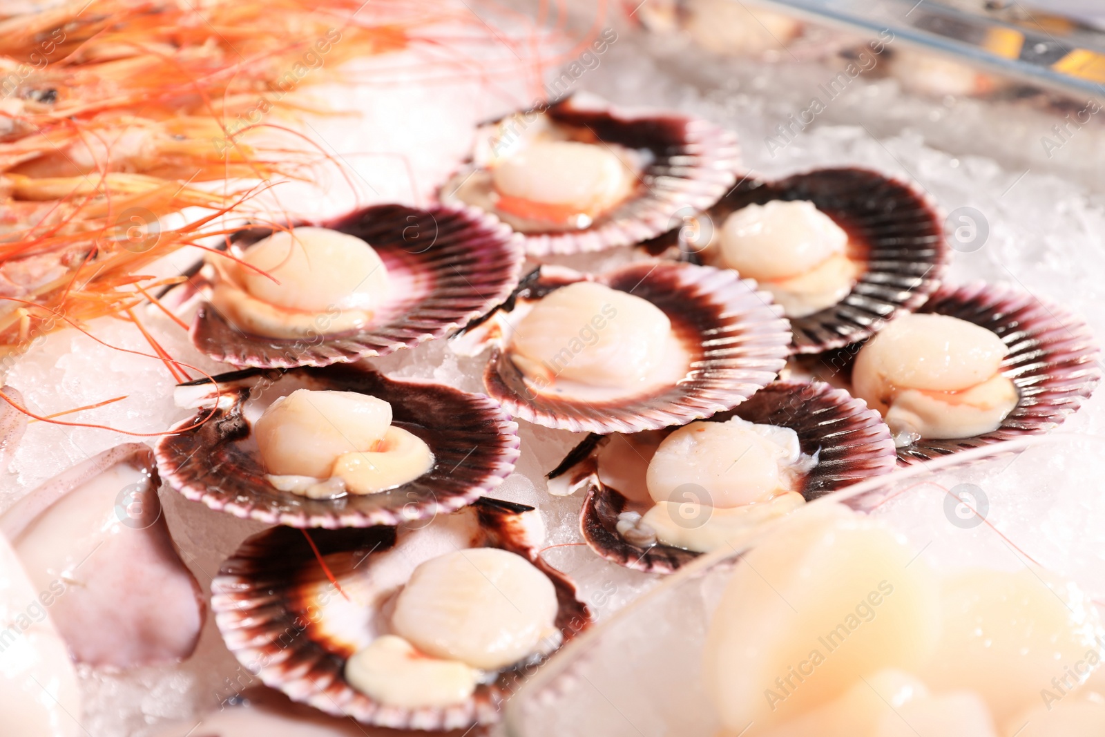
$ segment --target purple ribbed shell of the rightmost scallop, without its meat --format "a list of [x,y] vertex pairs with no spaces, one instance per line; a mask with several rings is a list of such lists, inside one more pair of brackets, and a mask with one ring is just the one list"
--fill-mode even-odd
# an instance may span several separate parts
[[1009,355],[1002,373],[1020,401],[993,432],[958,440],[920,440],[898,449],[898,463],[912,465],[1059,427],[1101,381],[1101,348],[1088,326],[1065,307],[1011,286],[975,282],[944,286],[920,313],[951,315],[996,333]]

